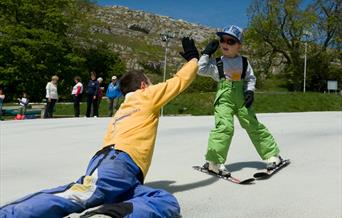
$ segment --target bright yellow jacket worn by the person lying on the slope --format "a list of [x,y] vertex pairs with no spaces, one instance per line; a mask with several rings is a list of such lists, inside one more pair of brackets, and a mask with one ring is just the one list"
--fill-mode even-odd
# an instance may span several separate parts
[[114,144],[115,149],[126,152],[145,178],[152,160],[160,108],[191,84],[197,70],[197,60],[192,59],[173,78],[128,93],[109,122],[103,147]]

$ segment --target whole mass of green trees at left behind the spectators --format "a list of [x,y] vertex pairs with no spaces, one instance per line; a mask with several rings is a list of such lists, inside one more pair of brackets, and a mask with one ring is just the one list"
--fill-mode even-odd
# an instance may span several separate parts
[[0,85],[7,99],[26,91],[31,101],[40,101],[55,74],[58,92],[68,98],[73,77],[88,78],[90,63],[106,75],[124,68],[116,54],[91,39],[93,10],[88,0],[0,0]]

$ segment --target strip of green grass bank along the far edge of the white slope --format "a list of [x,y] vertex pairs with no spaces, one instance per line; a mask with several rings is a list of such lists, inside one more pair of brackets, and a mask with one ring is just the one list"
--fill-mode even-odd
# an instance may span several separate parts
[[[212,115],[214,97],[214,92],[183,93],[164,107],[164,115]],[[13,103],[5,106],[13,106]],[[253,107],[257,113],[342,111],[342,96],[322,93],[256,93]],[[107,116],[107,108],[107,101],[103,99],[99,110],[101,117]],[[81,117],[85,112],[86,103],[83,102]],[[57,103],[54,115],[73,117],[73,104]]]

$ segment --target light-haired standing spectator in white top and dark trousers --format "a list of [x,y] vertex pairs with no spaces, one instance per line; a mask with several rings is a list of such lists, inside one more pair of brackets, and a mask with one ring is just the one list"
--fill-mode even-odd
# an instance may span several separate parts
[[44,118],[52,118],[53,110],[58,99],[57,93],[57,82],[58,76],[54,75],[51,77],[51,81],[46,84],[46,108]]

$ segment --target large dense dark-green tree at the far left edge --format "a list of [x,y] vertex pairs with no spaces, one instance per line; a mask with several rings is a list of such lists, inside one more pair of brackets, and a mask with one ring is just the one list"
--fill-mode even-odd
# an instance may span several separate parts
[[65,29],[72,23],[66,15],[74,5],[68,0],[1,0],[0,10],[1,82],[9,97],[26,91],[34,100],[41,98],[51,75],[65,66]]

